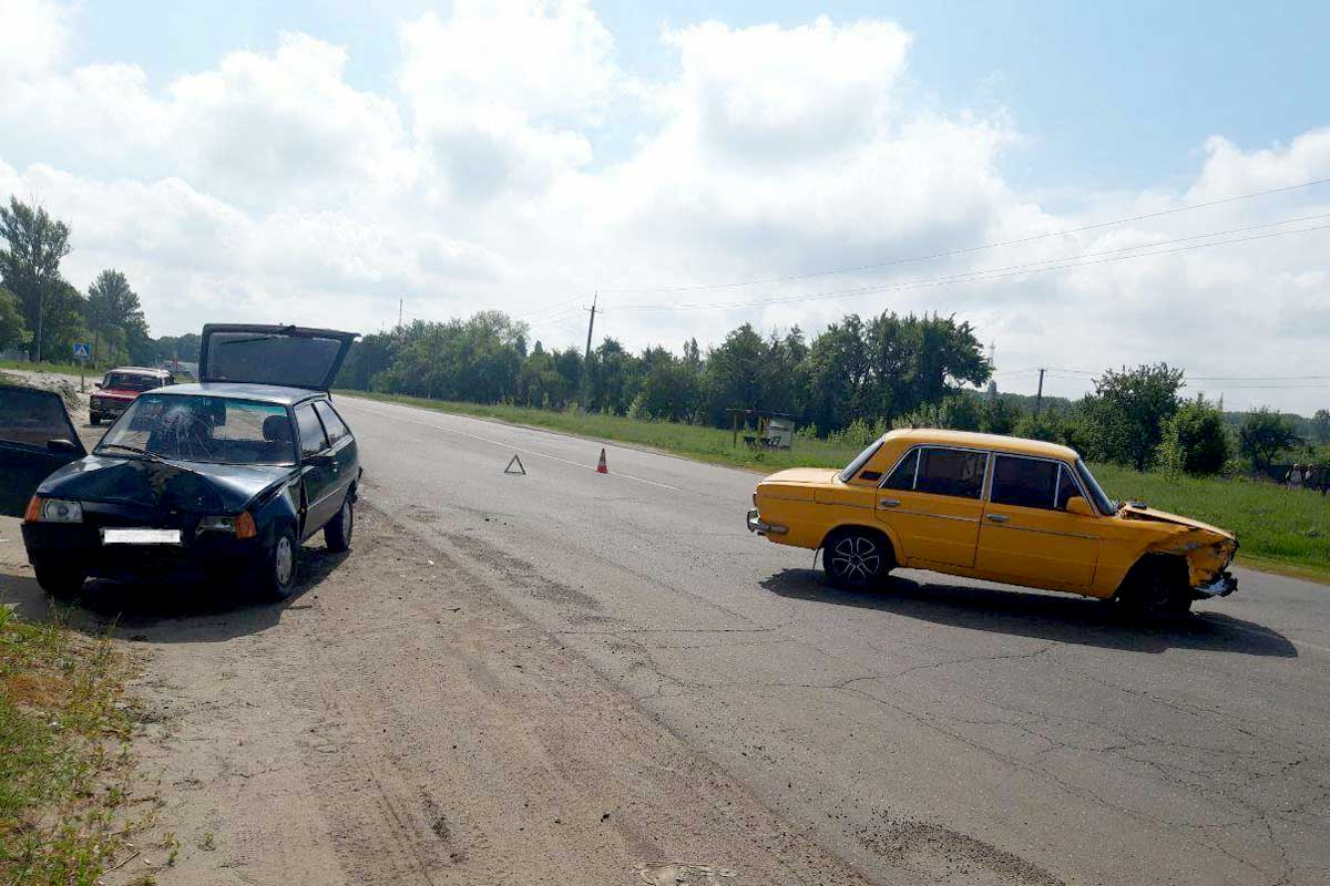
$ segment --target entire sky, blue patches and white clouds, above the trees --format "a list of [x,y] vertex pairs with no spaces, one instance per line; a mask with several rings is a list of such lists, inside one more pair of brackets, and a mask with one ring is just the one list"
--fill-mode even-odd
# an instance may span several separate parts
[[[1323,1],[0,0],[0,198],[66,218],[70,280],[124,270],[156,333],[400,299],[569,347],[596,291],[634,349],[940,312],[1009,389],[1166,360],[1310,412],[1330,185],[1229,201],[1330,179],[1327,46]],[[1294,375],[1325,384],[1246,383]]]

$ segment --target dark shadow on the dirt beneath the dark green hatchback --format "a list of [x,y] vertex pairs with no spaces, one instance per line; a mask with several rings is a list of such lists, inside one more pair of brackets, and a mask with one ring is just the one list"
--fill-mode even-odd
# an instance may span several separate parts
[[301,583],[285,600],[269,602],[251,588],[237,584],[121,584],[90,580],[73,600],[49,603],[32,578],[0,573],[0,603],[28,622],[47,622],[60,607],[60,618],[72,628],[116,635],[149,643],[215,643],[257,634],[274,624],[286,608],[302,608],[301,599],[348,557],[325,547],[306,547],[301,559]]

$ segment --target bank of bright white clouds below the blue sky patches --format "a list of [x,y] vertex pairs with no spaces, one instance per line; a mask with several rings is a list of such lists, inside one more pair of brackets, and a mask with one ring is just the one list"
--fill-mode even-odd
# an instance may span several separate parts
[[[665,28],[677,70],[642,84],[585,3],[462,1],[400,25],[394,92],[376,94],[350,81],[346,49],[299,33],[164,84],[132,58],[69,68],[63,8],[0,4],[5,25],[25,23],[17,40],[0,27],[0,49],[12,44],[0,52],[0,197],[39,198],[68,219],[70,279],[85,286],[121,267],[158,333],[211,319],[329,316],[368,331],[395,319],[398,298],[411,316],[524,315],[597,287],[880,264],[1330,177],[1330,129],[1257,150],[1217,135],[1190,182],[1049,211],[1004,173],[1023,141],[1015,122],[920,101],[911,36],[887,21]],[[633,149],[597,163],[605,129],[629,125]],[[43,162],[15,169],[19,154]],[[1330,373],[1326,232],[739,304],[1315,213],[1330,213],[1330,187],[872,271],[608,294],[597,328],[634,348],[677,347],[689,336],[714,343],[743,321],[815,332],[846,311],[938,311],[996,340],[1000,368],[1168,360],[1193,375]],[[572,308],[535,321],[547,344],[585,333]],[[1051,379],[1048,389],[1083,384]],[[1228,402],[1306,410],[1315,396],[1232,391]]]

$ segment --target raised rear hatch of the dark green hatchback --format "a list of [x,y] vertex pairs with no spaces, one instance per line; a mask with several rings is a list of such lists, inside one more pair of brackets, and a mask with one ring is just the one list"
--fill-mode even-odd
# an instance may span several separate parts
[[358,332],[295,325],[209,323],[198,351],[200,381],[327,391]]

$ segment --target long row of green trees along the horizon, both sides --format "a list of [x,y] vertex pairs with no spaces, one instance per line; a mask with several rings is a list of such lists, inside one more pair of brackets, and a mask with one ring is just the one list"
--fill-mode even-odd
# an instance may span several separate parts
[[[106,268],[80,291],[61,272],[70,228],[45,209],[0,206],[0,351],[68,360],[90,341],[98,365],[198,359],[198,336],[149,335],[138,295]],[[584,409],[654,421],[729,426],[733,409],[785,413],[802,433],[867,444],[894,426],[986,430],[1068,444],[1088,458],[1193,474],[1271,472],[1281,458],[1325,464],[1330,410],[1309,421],[1270,409],[1226,413],[1185,397],[1166,364],[1107,369],[1072,402],[1003,395],[990,384],[974,328],[951,316],[849,313],[807,336],[794,327],[732,329],[702,349],[641,353],[605,337],[589,353],[545,348],[500,311],[416,320],[358,341],[338,385],[436,400]],[[750,418],[751,420],[751,418]]]

